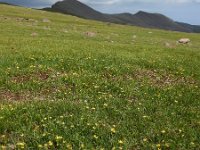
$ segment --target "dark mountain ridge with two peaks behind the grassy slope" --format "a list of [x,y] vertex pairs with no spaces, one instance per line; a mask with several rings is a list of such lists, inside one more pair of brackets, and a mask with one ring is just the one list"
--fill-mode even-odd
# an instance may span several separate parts
[[129,13],[109,15],[98,12],[77,0],[59,1],[55,3],[51,8],[44,8],[44,10],[55,11],[82,17],[85,19],[93,19],[111,23],[127,24],[172,31],[200,33],[200,26],[193,26],[189,24],[184,25],[184,23],[175,22],[161,14],[140,11],[134,15]]

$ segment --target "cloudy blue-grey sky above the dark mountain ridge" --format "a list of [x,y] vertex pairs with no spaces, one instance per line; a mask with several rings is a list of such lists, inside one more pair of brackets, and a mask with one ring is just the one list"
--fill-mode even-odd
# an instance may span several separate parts
[[[0,0],[27,7],[48,7],[58,0]],[[175,21],[200,25],[200,0],[79,0],[103,13],[161,13]]]

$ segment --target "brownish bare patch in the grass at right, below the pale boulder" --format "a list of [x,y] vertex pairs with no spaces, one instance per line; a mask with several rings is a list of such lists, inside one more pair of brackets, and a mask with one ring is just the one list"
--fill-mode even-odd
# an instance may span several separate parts
[[157,70],[139,69],[135,71],[133,76],[139,81],[146,79],[150,85],[156,87],[197,84],[197,81],[190,76],[176,76],[174,74],[167,73],[166,71],[161,73]]

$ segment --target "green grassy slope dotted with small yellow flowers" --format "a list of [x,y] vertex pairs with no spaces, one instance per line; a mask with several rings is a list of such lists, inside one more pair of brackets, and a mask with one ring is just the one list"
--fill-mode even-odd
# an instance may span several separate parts
[[199,87],[199,34],[0,5],[0,149],[200,149]]

